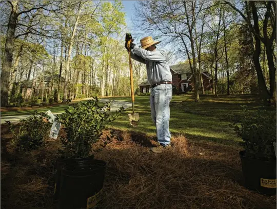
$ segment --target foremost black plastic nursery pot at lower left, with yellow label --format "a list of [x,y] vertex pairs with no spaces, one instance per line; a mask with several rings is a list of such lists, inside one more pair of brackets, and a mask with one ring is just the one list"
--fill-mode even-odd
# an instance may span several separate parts
[[102,199],[102,188],[107,163],[88,160],[62,166],[59,208],[94,208]]

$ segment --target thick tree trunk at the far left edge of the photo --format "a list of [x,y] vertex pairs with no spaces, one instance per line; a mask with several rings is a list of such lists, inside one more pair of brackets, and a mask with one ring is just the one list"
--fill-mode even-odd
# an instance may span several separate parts
[[2,72],[1,72],[1,106],[6,107],[8,105],[8,93],[9,93],[9,81],[10,81],[10,69],[12,65],[12,54],[14,45],[14,34],[16,28],[16,20],[18,17],[17,8],[18,1],[11,1],[12,5],[11,14],[9,17],[6,43],[4,49]]

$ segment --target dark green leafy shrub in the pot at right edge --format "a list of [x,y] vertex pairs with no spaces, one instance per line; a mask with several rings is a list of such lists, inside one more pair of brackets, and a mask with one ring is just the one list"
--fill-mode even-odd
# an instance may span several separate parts
[[248,113],[243,107],[243,117],[234,123],[238,136],[245,142],[245,157],[257,160],[276,159],[273,142],[276,142],[276,112],[259,110]]

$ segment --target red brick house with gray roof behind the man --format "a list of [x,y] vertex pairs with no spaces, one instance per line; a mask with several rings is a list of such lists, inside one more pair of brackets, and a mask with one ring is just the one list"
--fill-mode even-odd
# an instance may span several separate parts
[[[176,87],[178,92],[187,92],[194,90],[194,81],[189,64],[177,64],[170,66],[170,72],[172,74],[172,85]],[[203,79],[203,85],[205,90],[212,90],[211,74],[207,71],[201,73]],[[151,86],[147,79],[138,85],[141,93],[148,93],[151,90]],[[199,88],[202,88],[200,83]]]

